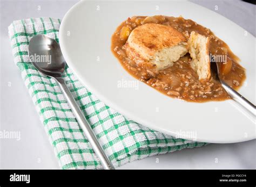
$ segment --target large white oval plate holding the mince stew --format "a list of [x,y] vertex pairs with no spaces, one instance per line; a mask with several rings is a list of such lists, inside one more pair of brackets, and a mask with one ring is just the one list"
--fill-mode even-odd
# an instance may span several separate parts
[[[111,53],[111,36],[134,15],[182,15],[210,28],[240,57],[247,80],[239,92],[255,103],[255,38],[225,17],[186,1],[82,1],[73,6],[62,21],[59,41],[66,62],[86,88],[124,116],[177,138],[216,143],[254,139],[255,117],[233,100],[172,99],[123,69]],[[124,88],[129,82],[133,87]]]

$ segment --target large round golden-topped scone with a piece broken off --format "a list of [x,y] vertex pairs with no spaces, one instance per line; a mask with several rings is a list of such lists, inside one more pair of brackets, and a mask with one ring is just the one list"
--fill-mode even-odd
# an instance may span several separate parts
[[171,26],[145,24],[135,28],[125,51],[136,63],[150,62],[157,70],[171,67],[187,53],[185,36]]

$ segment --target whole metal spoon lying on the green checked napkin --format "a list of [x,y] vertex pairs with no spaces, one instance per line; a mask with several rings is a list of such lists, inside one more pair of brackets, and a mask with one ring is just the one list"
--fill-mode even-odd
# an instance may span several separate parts
[[29,57],[30,61],[39,71],[46,76],[53,78],[58,83],[78,121],[79,126],[82,128],[85,136],[91,143],[91,146],[102,163],[103,168],[114,169],[112,163],[109,161],[102,147],[99,145],[91,126],[87,123],[82,111],[76,103],[76,100],[71,95],[69,88],[62,78],[66,62],[57,41],[46,35],[36,35],[29,42]]

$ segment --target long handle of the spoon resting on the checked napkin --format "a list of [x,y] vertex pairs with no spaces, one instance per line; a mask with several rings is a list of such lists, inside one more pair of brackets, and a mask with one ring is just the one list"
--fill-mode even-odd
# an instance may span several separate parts
[[53,77],[59,84],[60,89],[62,90],[66,100],[68,101],[73,114],[75,115],[79,126],[82,128],[85,133],[86,138],[91,143],[93,150],[98,156],[100,162],[104,169],[114,169],[112,163],[109,161],[108,157],[104,153],[102,147],[99,145],[99,142],[96,138],[95,133],[93,133],[91,126],[87,123],[87,120],[84,117],[83,112],[80,110],[79,106],[76,103],[76,100],[73,98],[69,88],[67,87],[65,81],[61,77]]

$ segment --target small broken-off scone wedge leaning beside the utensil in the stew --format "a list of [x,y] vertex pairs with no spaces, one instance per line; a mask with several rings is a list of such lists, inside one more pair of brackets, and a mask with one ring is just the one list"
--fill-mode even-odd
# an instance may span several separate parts
[[209,56],[210,38],[194,31],[188,39],[188,53],[192,57],[191,67],[196,71],[199,80],[211,77],[211,64]]

